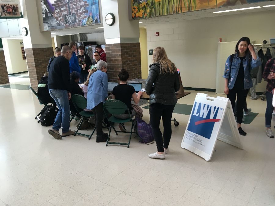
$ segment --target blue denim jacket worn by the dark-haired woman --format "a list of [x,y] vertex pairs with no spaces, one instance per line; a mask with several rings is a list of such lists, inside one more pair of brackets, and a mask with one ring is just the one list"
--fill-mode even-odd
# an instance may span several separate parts
[[[250,55],[247,54],[245,59],[243,60],[243,65],[244,65],[244,89],[249,89],[253,86],[250,71],[256,67],[259,67],[261,64],[261,60],[259,56],[257,56],[257,59],[252,59],[251,60],[251,65],[248,65],[250,59]],[[232,60],[232,65],[230,61],[230,56],[226,60],[226,65],[225,65],[225,70],[224,70],[224,75],[222,76],[223,78],[228,79],[228,89],[233,89],[235,81],[238,76],[240,68],[240,58],[238,57],[238,54],[236,53],[233,60]]]

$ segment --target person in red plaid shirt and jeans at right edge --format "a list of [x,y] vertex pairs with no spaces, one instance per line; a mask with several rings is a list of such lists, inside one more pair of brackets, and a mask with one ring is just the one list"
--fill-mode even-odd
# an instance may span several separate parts
[[262,77],[267,81],[266,85],[266,135],[274,138],[271,130],[271,118],[274,107],[272,98],[275,88],[275,58],[267,61]]

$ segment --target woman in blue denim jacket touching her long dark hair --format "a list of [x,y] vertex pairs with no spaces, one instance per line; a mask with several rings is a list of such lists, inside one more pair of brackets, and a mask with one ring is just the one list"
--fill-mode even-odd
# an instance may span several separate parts
[[248,37],[241,38],[236,45],[234,57],[231,55],[226,60],[224,93],[231,101],[234,110],[237,95],[237,123],[240,135],[246,133],[241,128],[243,119],[243,107],[249,89],[253,86],[251,79],[251,70],[259,67],[261,61],[255,54],[253,46],[250,44]]

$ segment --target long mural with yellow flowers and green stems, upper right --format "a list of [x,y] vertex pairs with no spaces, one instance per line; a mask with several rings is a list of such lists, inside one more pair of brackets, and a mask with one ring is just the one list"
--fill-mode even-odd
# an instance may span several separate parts
[[263,1],[266,0],[132,0],[132,18],[144,19],[153,16]]

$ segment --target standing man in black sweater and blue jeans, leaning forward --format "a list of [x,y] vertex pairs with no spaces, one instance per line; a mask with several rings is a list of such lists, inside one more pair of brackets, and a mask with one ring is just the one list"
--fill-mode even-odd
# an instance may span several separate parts
[[[50,96],[53,97],[59,109],[53,128],[48,132],[55,139],[73,135],[75,131],[70,130],[70,64],[72,50],[68,46],[63,46],[61,55],[56,57],[50,65],[48,78],[48,88]],[[62,125],[62,135],[58,132]]]

